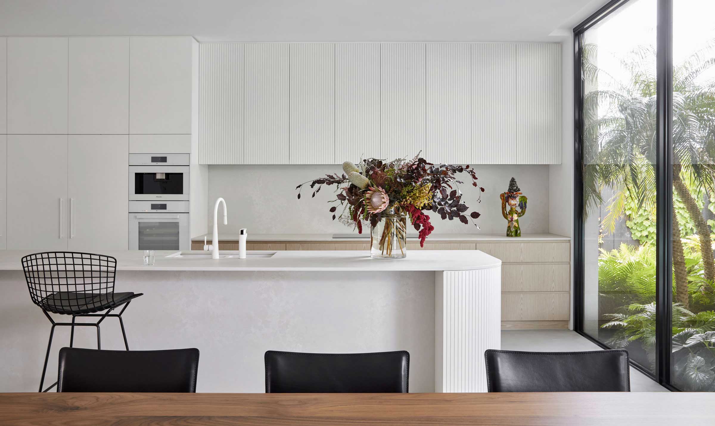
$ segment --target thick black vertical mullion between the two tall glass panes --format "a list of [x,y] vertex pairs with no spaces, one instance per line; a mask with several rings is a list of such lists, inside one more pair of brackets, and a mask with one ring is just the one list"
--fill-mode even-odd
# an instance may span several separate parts
[[673,0],[658,0],[656,42],[656,377],[671,383]]

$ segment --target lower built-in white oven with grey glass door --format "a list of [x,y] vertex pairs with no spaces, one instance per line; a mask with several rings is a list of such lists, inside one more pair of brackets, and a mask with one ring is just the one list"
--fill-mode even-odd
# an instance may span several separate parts
[[130,201],[130,250],[189,250],[189,202]]

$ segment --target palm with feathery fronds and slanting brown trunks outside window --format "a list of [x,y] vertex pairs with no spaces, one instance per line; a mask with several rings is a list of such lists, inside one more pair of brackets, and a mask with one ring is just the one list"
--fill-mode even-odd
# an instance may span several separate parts
[[[715,81],[701,81],[715,65],[715,44],[696,51],[674,69],[673,187],[695,222],[704,263],[704,278],[715,280],[711,231],[696,198],[697,192],[715,194]],[[629,80],[613,78],[596,63],[598,47],[583,50],[586,84],[608,89],[588,91],[584,97],[585,212],[603,202],[601,189],[616,189],[611,214],[623,216],[623,197],[631,197],[649,212],[656,208],[656,49],[641,46],[621,60]],[[604,84],[605,83],[605,84]],[[688,281],[680,226],[674,207],[673,264],[676,302],[688,307]]]

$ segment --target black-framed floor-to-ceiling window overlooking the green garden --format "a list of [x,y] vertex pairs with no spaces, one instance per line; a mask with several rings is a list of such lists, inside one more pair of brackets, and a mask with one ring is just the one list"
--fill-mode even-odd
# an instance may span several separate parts
[[677,390],[715,391],[712,16],[618,0],[574,30],[576,330]]

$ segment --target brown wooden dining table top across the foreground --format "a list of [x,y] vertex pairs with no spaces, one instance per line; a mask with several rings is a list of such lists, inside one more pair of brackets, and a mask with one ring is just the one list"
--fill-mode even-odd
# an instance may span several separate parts
[[715,394],[5,393],[0,425],[714,425]]

